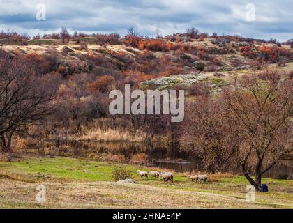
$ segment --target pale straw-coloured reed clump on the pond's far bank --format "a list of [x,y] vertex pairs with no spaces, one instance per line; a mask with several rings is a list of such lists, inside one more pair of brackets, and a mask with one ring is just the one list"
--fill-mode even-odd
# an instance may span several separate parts
[[78,140],[95,140],[95,141],[135,141],[142,142],[147,139],[147,134],[137,131],[135,134],[130,134],[126,130],[107,129],[101,130],[100,128],[86,130]]

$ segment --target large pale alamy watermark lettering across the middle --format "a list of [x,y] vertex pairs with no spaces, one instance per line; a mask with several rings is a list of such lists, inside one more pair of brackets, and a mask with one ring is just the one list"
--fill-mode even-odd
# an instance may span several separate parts
[[[178,91],[178,97],[176,95],[176,90],[148,90],[146,95],[142,90],[131,92],[130,84],[126,84],[124,94],[123,97],[123,93],[119,90],[113,90],[110,92],[109,98],[114,99],[109,105],[110,114],[171,114],[171,121],[175,123],[179,123],[184,119],[183,90]],[[132,100],[134,101],[132,102]]]

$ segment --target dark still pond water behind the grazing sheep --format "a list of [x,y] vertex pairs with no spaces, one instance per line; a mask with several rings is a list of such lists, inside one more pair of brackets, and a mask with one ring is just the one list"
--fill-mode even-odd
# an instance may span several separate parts
[[[162,144],[142,143],[113,143],[98,141],[70,141],[60,140],[57,142],[58,155],[70,155],[74,157],[89,157],[91,153],[98,155],[111,154],[122,155],[125,160],[131,160],[133,155],[145,153],[151,167],[172,169],[176,172],[191,172],[200,169],[199,162],[190,160],[188,155],[180,152],[172,146]],[[63,154],[62,154],[63,153]],[[265,164],[264,164],[265,165]],[[264,177],[287,179],[293,174],[293,160],[284,160],[270,169]]]

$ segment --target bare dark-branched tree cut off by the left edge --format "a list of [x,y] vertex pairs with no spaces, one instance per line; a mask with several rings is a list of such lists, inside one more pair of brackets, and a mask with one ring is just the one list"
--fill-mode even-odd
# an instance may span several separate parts
[[[52,86],[52,88],[50,88]],[[0,55],[0,137],[2,151],[11,152],[15,132],[41,121],[50,113],[54,87],[38,76],[24,59]]]

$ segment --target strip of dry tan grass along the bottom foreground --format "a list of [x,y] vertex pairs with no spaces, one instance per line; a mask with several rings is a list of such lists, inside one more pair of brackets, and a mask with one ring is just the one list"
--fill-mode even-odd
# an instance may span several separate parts
[[1,208],[273,208],[265,203],[248,203],[245,194],[235,197],[110,182],[44,183],[46,203],[40,206],[35,200],[37,185],[0,180]]

